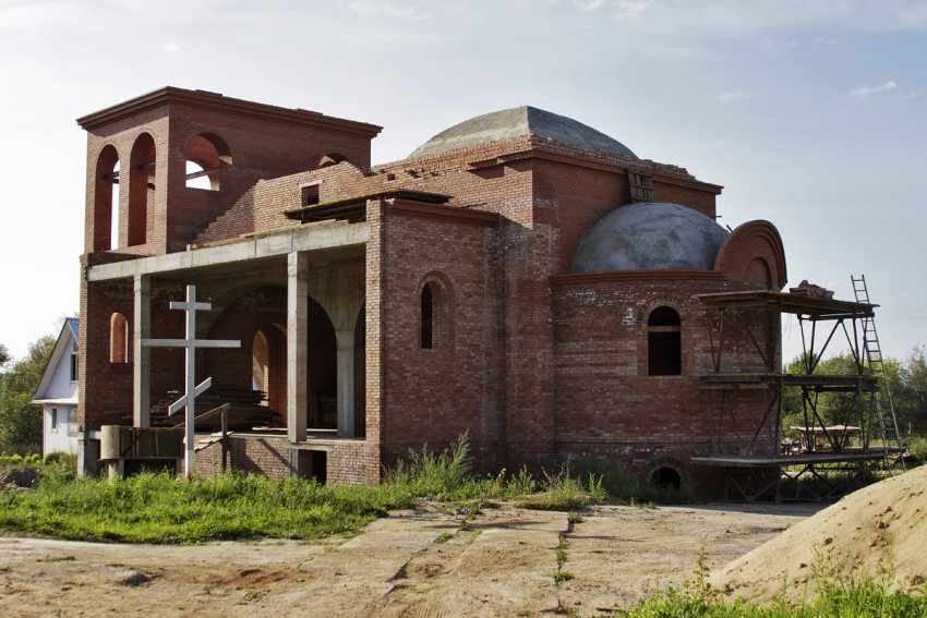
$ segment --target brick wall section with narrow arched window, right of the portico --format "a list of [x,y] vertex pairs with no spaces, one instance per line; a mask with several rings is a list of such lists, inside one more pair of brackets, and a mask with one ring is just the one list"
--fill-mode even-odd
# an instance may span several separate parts
[[[381,444],[388,456],[399,456],[469,432],[471,445],[487,457],[497,425],[495,387],[486,372],[494,352],[486,328],[494,320],[485,262],[492,228],[397,215],[389,206],[383,228],[382,337],[388,360]],[[430,250],[423,253],[422,246]],[[432,349],[423,349],[420,337],[428,282],[440,290]]]

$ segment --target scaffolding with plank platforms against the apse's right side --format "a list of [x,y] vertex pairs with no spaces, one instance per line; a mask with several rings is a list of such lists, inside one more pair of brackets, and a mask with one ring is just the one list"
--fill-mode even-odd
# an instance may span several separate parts
[[[827,499],[865,483],[866,472],[901,449],[880,423],[879,380],[868,366],[864,326],[878,305],[839,301],[823,293],[746,291],[701,294],[710,332],[712,367],[702,375],[711,455],[693,462],[727,472],[725,493],[757,499]],[[781,319],[795,315],[802,332],[800,373],[783,373]],[[733,334],[733,336],[732,336]],[[847,344],[852,374],[818,372],[836,341]],[[745,344],[748,342],[748,344]],[[782,401],[797,389],[803,420],[783,432]],[[846,393],[853,405],[826,422],[821,393]]]

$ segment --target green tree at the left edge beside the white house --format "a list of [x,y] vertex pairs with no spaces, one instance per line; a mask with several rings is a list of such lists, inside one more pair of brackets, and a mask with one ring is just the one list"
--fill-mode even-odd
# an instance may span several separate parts
[[0,377],[0,445],[4,449],[37,451],[41,445],[41,407],[32,403],[32,398],[55,343],[55,337],[41,337]]

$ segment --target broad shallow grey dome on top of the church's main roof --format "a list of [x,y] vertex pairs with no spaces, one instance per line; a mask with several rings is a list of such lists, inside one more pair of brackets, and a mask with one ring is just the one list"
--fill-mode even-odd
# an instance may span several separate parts
[[637,158],[624,144],[591,126],[571,118],[529,106],[504,109],[465,120],[460,124],[442,131],[419,146],[409,157],[436,155],[518,135],[535,135],[564,144]]

